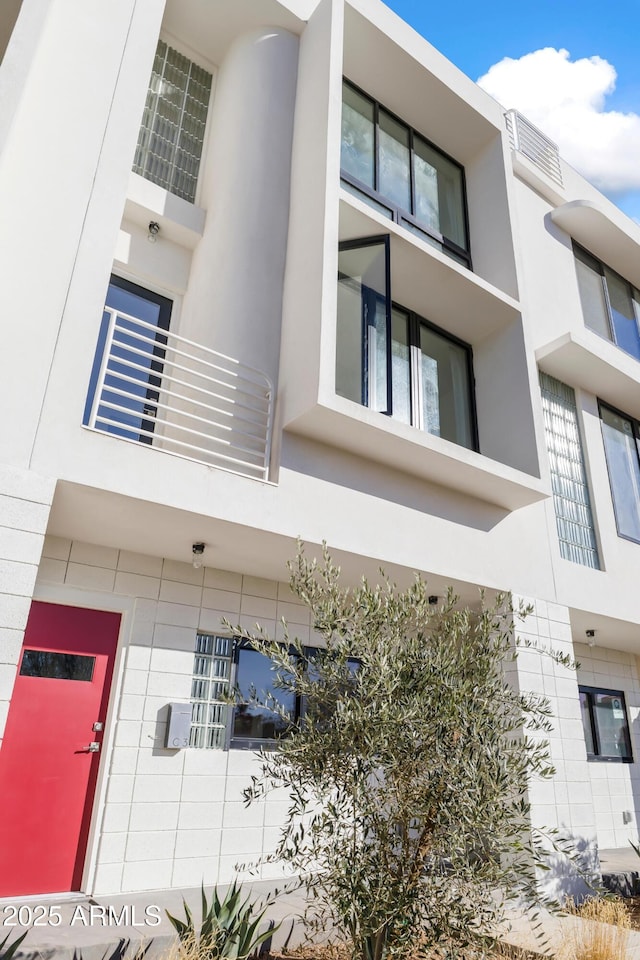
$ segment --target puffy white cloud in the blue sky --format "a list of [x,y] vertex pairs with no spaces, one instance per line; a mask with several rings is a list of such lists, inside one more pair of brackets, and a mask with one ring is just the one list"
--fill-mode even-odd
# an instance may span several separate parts
[[604,193],[640,189],[640,115],[607,110],[615,68],[602,57],[570,59],[545,47],[505,57],[478,84],[547,134],[560,154]]

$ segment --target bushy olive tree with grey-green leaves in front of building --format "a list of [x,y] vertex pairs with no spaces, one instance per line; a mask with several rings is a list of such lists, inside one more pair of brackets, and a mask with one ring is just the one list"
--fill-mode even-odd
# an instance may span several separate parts
[[[506,898],[535,896],[527,785],[554,772],[548,702],[507,682],[509,598],[471,610],[449,593],[434,605],[418,576],[405,590],[384,579],[349,589],[326,549],[318,564],[300,548],[290,574],[321,648],[286,624],[280,642],[235,628],[303,714],[261,753],[247,802],[286,788],[275,856],[354,957],[477,945]],[[267,699],[279,709],[277,693]]]

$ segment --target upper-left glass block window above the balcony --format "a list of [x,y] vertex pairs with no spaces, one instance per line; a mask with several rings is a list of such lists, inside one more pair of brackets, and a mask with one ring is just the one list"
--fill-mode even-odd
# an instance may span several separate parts
[[133,163],[134,173],[195,200],[211,74],[158,43]]

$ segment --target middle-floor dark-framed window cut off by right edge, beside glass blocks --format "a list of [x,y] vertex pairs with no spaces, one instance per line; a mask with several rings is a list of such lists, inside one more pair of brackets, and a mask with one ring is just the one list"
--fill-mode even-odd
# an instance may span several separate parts
[[618,533],[640,543],[640,424],[603,403],[600,419]]

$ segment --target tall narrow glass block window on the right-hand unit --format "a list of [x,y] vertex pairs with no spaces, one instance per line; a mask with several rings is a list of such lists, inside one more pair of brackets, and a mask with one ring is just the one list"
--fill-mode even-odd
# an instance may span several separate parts
[[560,554],[599,570],[575,393],[542,372],[540,389]]

